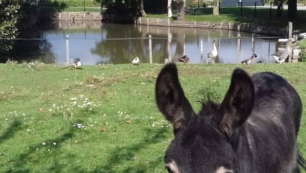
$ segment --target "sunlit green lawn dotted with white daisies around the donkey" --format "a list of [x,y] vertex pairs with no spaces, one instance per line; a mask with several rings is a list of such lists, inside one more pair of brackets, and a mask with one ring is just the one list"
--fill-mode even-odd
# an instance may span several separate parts
[[[0,64],[0,172],[166,172],[172,127],[154,93],[162,66]],[[284,76],[306,107],[306,63],[178,67],[197,111],[207,95],[222,100],[236,67]],[[304,156],[305,111],[298,136]]]

